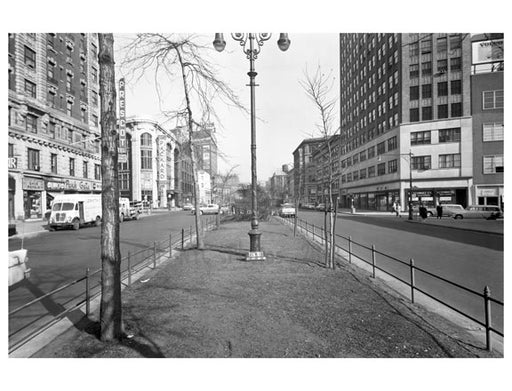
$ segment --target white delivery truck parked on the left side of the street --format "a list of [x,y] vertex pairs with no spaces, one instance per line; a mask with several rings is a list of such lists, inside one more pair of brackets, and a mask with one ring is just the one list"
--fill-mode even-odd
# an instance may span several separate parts
[[101,194],[62,194],[55,197],[48,220],[50,231],[70,227],[78,230],[86,224],[101,224]]

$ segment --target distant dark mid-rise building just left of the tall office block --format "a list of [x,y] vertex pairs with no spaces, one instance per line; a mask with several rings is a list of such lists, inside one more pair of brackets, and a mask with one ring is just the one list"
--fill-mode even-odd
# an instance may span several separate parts
[[301,205],[320,202],[313,153],[324,141],[323,137],[305,139],[293,151],[294,194]]

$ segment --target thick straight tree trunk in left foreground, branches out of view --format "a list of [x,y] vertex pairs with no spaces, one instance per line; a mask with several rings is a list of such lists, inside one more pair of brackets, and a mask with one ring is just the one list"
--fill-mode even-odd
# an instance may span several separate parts
[[121,252],[119,250],[118,141],[114,36],[99,35],[101,97],[101,305],[102,341],[122,338]]

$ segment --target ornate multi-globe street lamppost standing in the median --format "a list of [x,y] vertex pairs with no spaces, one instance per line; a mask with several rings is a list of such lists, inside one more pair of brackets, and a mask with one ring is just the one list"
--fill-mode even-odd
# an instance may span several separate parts
[[[251,230],[249,231],[250,250],[245,258],[247,261],[264,261],[265,256],[261,251],[260,239],[261,232],[258,230],[258,203],[257,203],[257,175],[256,175],[256,105],[255,105],[255,78],[256,71],[254,70],[254,61],[258,58],[261,47],[265,41],[268,41],[272,34],[270,33],[233,33],[231,37],[240,42],[242,51],[249,59],[249,87],[251,88],[251,204],[252,204],[252,217],[251,217]],[[226,47],[226,41],[222,33],[215,34],[213,46],[218,52],[222,52]],[[288,34],[281,33],[277,46],[282,51],[285,51],[290,46],[290,39]]]

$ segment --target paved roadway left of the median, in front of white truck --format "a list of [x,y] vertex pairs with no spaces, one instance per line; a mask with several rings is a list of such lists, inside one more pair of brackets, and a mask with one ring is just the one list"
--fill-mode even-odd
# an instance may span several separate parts
[[[212,218],[212,216],[203,218]],[[152,246],[153,241],[168,240],[169,232],[174,235],[173,241],[177,240],[181,237],[181,228],[185,228],[188,233],[191,224],[193,224],[193,215],[182,211],[159,212],[145,215],[139,220],[123,222],[120,225],[121,255],[126,256],[128,251],[133,254],[142,248]],[[24,248],[28,249],[32,272],[30,280],[9,289],[9,310],[83,277],[86,268],[90,268],[91,271],[100,269],[100,234],[100,227],[85,227],[79,231],[45,232],[25,238]],[[20,238],[9,240],[9,250],[19,249],[20,246]],[[91,280],[91,283],[98,281],[99,274]],[[76,296],[84,291],[85,284],[81,283],[56,296],[58,304],[55,297],[52,297],[41,304],[14,314],[9,319],[9,334],[17,331],[21,325],[26,325],[47,313],[60,312],[61,305],[68,300],[76,299]]]

